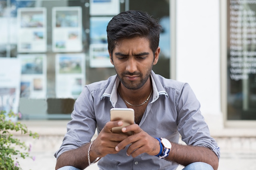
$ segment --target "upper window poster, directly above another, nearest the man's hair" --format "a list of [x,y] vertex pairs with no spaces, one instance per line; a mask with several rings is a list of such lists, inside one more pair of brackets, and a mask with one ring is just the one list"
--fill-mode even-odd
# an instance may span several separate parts
[[52,8],[52,51],[82,51],[82,8]]

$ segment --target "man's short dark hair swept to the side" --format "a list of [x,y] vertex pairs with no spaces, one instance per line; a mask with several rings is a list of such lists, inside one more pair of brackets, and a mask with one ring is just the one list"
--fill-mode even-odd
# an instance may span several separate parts
[[145,37],[153,53],[159,45],[161,25],[147,12],[128,10],[114,16],[107,26],[108,50],[113,53],[117,41],[134,37]]

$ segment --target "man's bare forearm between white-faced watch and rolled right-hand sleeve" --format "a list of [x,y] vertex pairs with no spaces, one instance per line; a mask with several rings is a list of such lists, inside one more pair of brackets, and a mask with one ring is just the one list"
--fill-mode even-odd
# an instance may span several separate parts
[[167,160],[187,166],[193,162],[205,162],[214,170],[218,169],[218,157],[214,152],[205,147],[193,147],[172,143],[172,149]]

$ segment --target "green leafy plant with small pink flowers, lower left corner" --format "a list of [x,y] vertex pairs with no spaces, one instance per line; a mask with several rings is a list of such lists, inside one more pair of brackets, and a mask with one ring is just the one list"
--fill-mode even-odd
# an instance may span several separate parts
[[0,111],[0,170],[21,170],[22,168],[17,161],[20,156],[22,158],[30,157],[29,155],[31,146],[26,146],[24,142],[14,138],[12,132],[20,131],[21,134],[28,134],[29,136],[38,138],[38,133],[32,133],[28,131],[26,125],[20,123],[20,121],[13,122],[11,117],[20,117],[20,113],[15,114],[10,111],[6,114],[6,111]]

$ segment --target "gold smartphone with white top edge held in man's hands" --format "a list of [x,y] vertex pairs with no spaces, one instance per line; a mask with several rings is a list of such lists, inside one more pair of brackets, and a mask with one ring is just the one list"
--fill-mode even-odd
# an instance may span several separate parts
[[123,125],[120,127],[113,127],[112,133],[124,134],[127,136],[133,135],[133,131],[122,132],[122,128],[134,124],[134,109],[129,108],[112,108],[110,109],[110,121],[120,120]]

